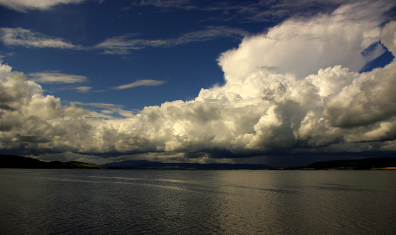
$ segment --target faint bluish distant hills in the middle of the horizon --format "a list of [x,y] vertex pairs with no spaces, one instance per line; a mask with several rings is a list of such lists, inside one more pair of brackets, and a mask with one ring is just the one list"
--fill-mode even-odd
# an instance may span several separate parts
[[197,169],[197,170],[236,170],[236,169],[268,169],[270,165],[262,164],[227,164],[227,163],[163,163],[147,160],[127,160],[111,162],[102,166],[117,167],[121,169]]

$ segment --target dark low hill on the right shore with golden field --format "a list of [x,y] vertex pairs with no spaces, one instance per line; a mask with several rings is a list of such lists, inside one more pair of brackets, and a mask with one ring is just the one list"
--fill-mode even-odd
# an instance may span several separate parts
[[[286,168],[291,169],[291,168]],[[353,160],[317,161],[308,166],[293,169],[337,169],[337,170],[368,170],[368,169],[396,169],[395,157],[370,157]]]

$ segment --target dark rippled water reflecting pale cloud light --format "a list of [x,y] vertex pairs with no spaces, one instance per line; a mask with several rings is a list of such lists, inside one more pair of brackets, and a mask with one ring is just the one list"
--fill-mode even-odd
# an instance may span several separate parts
[[0,169],[0,234],[382,234],[396,171]]

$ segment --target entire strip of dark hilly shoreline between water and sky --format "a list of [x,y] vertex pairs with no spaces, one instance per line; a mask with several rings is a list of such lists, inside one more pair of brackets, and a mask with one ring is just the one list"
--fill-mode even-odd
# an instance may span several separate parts
[[0,168],[31,169],[194,169],[194,170],[396,170],[395,157],[371,157],[351,160],[317,161],[308,166],[275,168],[263,164],[228,163],[163,163],[147,160],[127,160],[103,165],[80,161],[41,161],[31,157],[0,155]]

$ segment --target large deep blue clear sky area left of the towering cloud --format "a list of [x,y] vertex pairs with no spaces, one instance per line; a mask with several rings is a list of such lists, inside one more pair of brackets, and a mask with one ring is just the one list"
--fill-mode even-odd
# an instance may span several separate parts
[[[220,2],[218,4],[225,6],[218,10],[205,9],[211,7],[211,1],[184,2],[169,1],[161,7],[157,1],[153,4],[124,0],[83,1],[55,5],[48,10],[26,9],[28,12],[2,7],[1,27],[22,28],[29,34],[36,34],[37,38],[55,39],[75,46],[2,45],[2,54],[12,55],[3,60],[27,75],[57,71],[86,77],[68,86],[60,82],[40,83],[43,89],[64,101],[112,103],[123,105],[126,110],[141,110],[164,101],[191,100],[200,88],[224,82],[216,62],[221,52],[237,47],[245,35],[263,32],[277,21],[249,21],[235,13],[236,10],[231,10],[233,15],[229,19],[221,16],[227,8],[241,8],[238,2]],[[197,9],[184,9],[196,3],[200,3]],[[235,15],[239,18],[234,19]],[[117,38],[124,43],[142,42],[130,48],[125,46],[122,51],[105,45],[96,47]],[[152,44],[155,41],[164,44]],[[148,79],[163,83],[156,87],[111,89]],[[90,90],[84,93],[73,90],[79,86],[90,87]],[[67,87],[69,89],[60,90]]]

